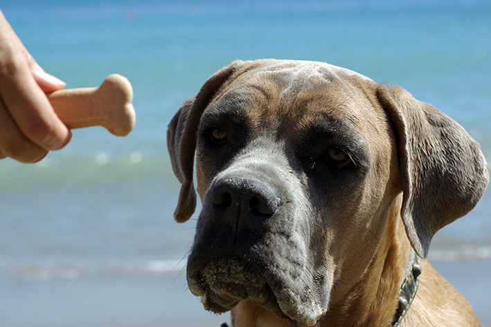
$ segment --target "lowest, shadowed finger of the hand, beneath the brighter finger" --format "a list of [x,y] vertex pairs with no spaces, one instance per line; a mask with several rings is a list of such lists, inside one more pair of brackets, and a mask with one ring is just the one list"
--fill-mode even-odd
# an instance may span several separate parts
[[48,151],[26,139],[0,101],[0,159],[11,157],[25,163],[37,162],[47,153]]

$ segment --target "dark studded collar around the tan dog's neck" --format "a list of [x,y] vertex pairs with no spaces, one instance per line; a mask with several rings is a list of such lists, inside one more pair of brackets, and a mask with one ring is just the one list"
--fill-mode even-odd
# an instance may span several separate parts
[[404,277],[404,282],[399,290],[399,307],[397,312],[395,312],[394,319],[392,321],[391,327],[398,327],[406,315],[411,303],[413,303],[414,297],[416,297],[416,291],[418,290],[418,285],[420,285],[420,275],[421,275],[421,263],[420,258],[416,252],[411,249],[411,257],[409,258],[409,264],[407,265],[406,276]]

